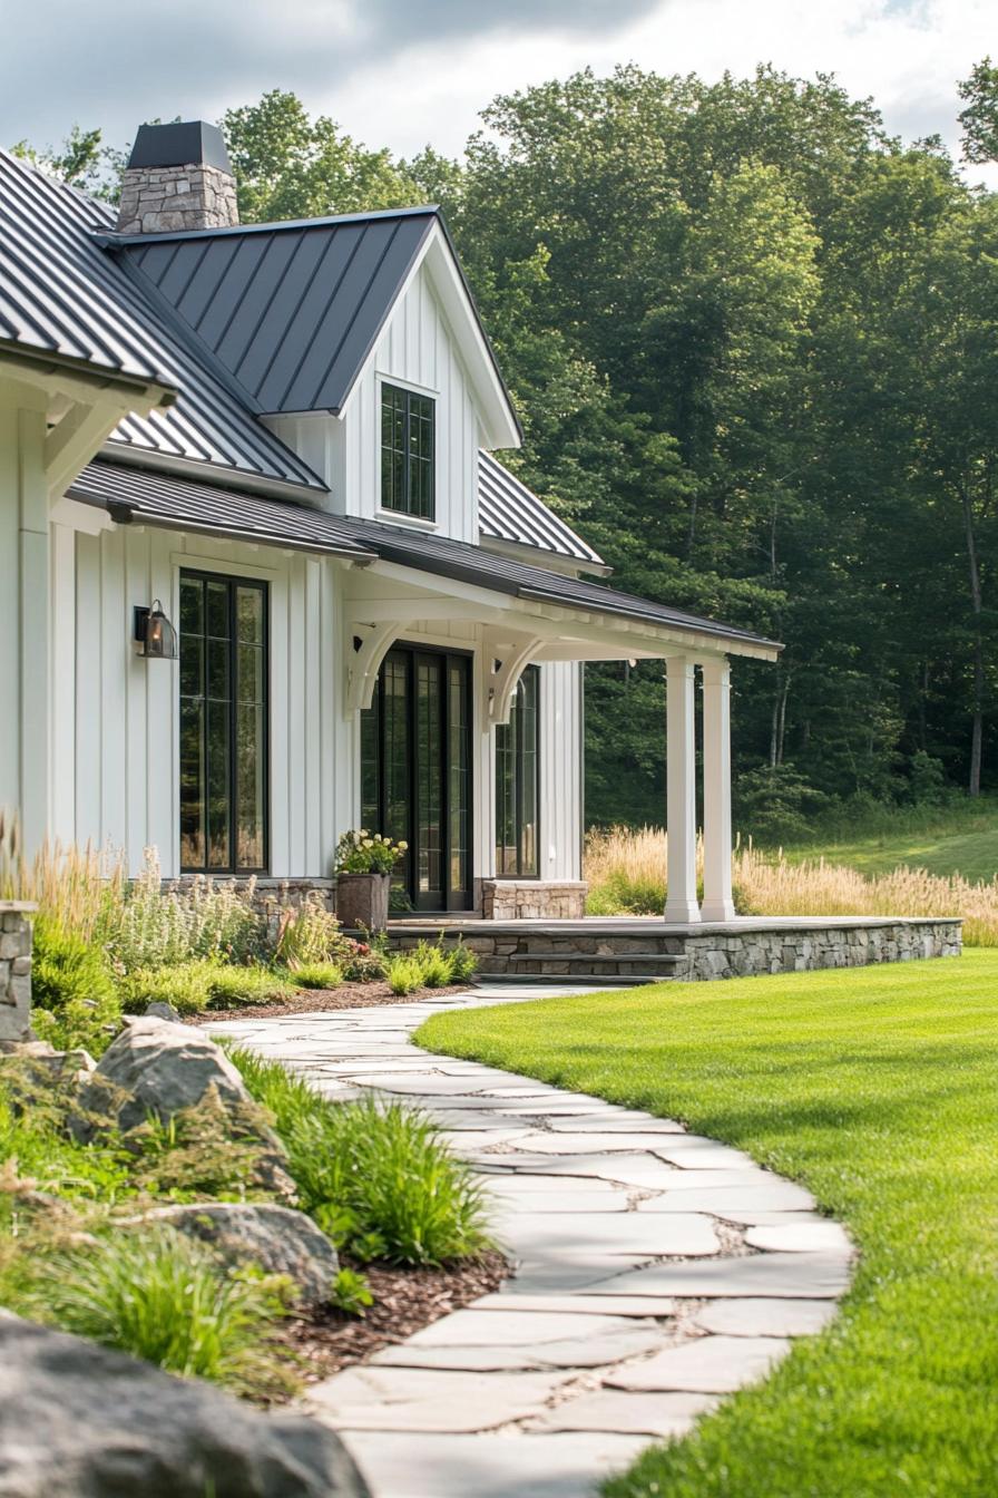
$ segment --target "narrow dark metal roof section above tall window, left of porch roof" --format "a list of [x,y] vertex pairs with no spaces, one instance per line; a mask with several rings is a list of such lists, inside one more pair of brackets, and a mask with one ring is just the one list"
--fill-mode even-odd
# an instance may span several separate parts
[[271,541],[307,551],[374,560],[337,520],[320,509],[260,494],[168,478],[100,460],[90,463],[67,493],[109,509],[115,520],[147,520],[172,530],[218,532],[230,539]]

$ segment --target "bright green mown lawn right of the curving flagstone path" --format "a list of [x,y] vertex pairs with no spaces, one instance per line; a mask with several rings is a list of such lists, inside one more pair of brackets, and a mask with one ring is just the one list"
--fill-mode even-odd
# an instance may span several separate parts
[[862,1249],[827,1332],[609,1498],[994,1498],[998,951],[441,1014],[417,1040],[739,1144]]

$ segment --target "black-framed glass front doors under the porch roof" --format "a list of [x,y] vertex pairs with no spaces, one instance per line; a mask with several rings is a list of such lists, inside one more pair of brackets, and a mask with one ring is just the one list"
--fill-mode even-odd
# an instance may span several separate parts
[[395,908],[471,905],[471,658],[397,646],[362,713],[361,821],[408,843]]

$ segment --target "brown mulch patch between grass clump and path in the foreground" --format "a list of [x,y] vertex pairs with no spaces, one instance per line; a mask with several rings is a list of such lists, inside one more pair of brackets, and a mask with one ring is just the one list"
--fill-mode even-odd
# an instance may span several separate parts
[[367,1276],[374,1296],[364,1317],[326,1309],[281,1323],[278,1339],[293,1353],[304,1384],[317,1384],[350,1363],[367,1362],[383,1347],[404,1342],[441,1315],[498,1290],[509,1275],[506,1260],[495,1252],[447,1269],[350,1267]]

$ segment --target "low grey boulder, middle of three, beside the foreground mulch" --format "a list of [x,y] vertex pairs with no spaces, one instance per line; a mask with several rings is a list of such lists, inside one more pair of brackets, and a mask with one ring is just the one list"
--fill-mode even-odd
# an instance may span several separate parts
[[136,1221],[196,1237],[233,1269],[259,1264],[268,1275],[287,1275],[304,1306],[328,1303],[340,1269],[335,1248],[310,1216],[266,1201],[154,1207]]

